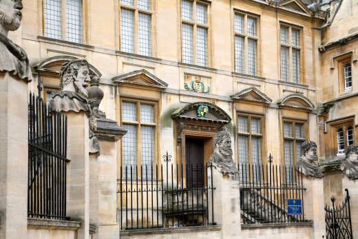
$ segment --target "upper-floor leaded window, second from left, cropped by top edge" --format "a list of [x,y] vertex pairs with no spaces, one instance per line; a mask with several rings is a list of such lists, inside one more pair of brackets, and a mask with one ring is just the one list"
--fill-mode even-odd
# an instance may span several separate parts
[[153,0],[120,0],[120,50],[152,55],[151,10]]

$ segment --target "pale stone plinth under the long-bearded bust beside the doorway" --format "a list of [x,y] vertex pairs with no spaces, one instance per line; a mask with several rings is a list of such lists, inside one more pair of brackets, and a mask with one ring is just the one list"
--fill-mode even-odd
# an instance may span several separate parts
[[[212,174],[211,174],[212,172]],[[213,202],[209,197],[209,222],[212,220],[211,203],[213,203],[214,222],[220,225],[220,238],[240,238],[240,187],[239,175],[222,176],[215,167],[208,168],[208,185],[213,180]],[[211,190],[209,190],[210,192]]]

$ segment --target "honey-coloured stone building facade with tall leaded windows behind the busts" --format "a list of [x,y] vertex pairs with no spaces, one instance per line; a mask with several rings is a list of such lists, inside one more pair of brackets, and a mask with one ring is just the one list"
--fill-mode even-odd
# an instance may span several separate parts
[[271,154],[293,166],[315,141],[328,203],[343,198],[339,165],[358,141],[357,11],[357,0],[26,0],[10,39],[47,102],[61,65],[88,61],[100,109],[127,130],[110,146],[117,178],[166,152],[204,165],[225,129],[237,165]]

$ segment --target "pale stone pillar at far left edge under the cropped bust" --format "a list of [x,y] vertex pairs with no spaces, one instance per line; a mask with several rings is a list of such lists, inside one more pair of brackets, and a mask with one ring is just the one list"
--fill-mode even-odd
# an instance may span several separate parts
[[0,238],[28,238],[28,83],[0,72]]

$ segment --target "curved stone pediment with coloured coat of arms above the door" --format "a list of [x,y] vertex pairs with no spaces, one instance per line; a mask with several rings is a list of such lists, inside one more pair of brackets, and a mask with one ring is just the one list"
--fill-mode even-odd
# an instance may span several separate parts
[[177,121],[201,121],[220,125],[231,122],[230,116],[224,110],[207,102],[196,102],[180,107],[171,114],[171,118]]

